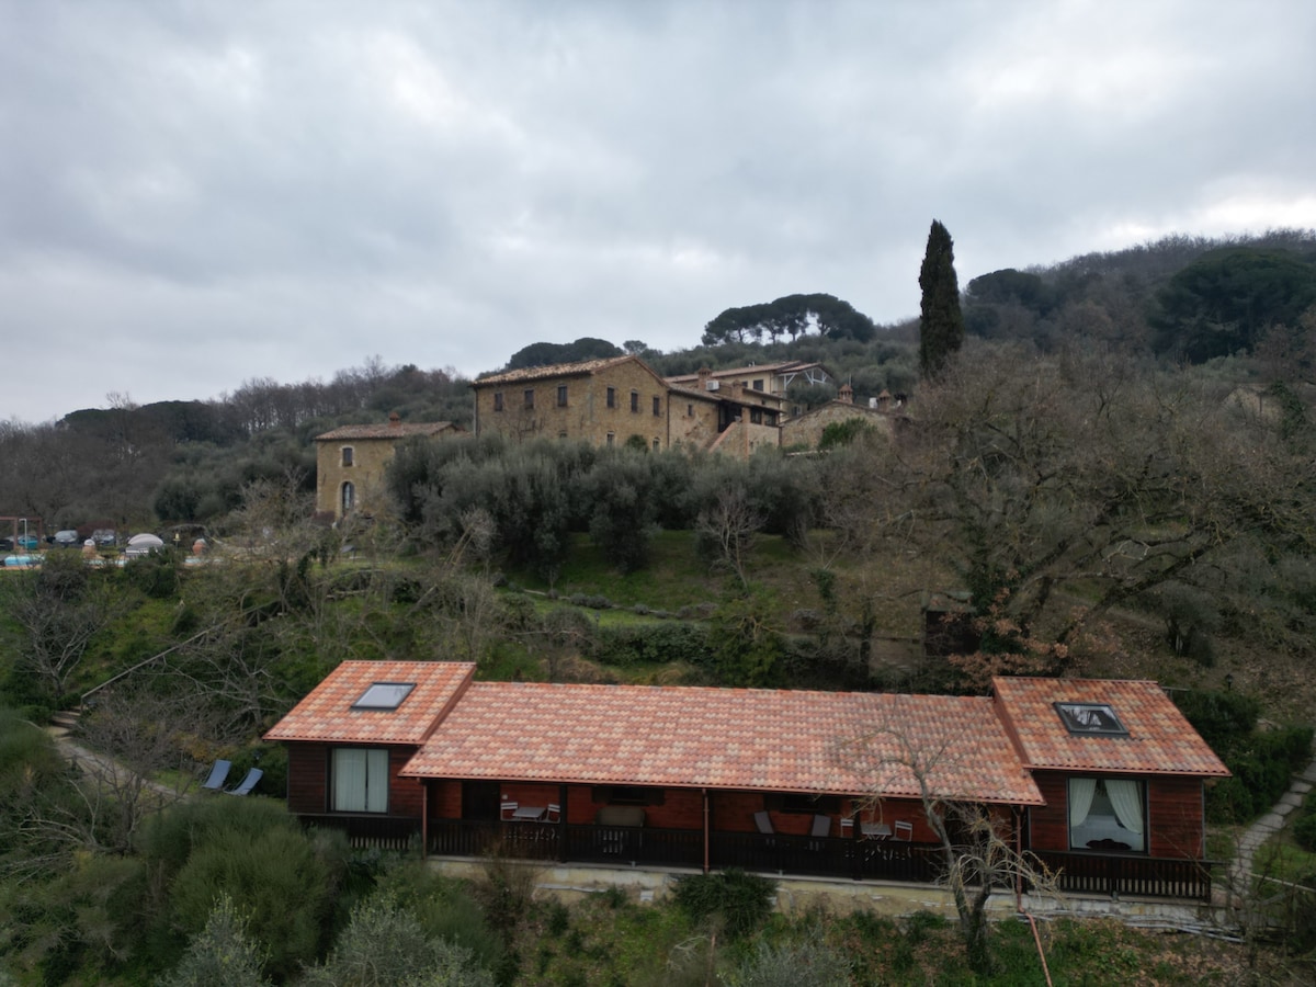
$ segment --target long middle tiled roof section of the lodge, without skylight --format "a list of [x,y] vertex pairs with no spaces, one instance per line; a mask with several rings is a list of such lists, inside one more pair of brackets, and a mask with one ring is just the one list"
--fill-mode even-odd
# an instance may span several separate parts
[[992,700],[474,683],[404,775],[946,797],[1040,805]]

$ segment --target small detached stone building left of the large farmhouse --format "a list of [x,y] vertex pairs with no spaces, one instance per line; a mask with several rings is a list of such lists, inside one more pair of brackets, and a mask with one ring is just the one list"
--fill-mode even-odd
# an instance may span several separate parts
[[387,424],[343,425],[316,436],[316,515],[338,521],[371,513],[382,503],[384,470],[399,442],[462,432],[450,421],[404,422],[395,412]]

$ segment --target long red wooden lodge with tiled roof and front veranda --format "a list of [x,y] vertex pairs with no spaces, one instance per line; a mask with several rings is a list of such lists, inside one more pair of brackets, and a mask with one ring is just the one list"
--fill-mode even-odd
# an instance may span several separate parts
[[933,801],[987,807],[1062,890],[1208,899],[1224,765],[1152,682],[994,695],[484,683],[345,662],[267,740],[288,805],[361,845],[932,882]]

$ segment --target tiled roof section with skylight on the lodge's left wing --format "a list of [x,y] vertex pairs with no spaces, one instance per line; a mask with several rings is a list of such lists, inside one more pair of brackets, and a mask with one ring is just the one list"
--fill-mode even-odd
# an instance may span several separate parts
[[[470,684],[468,662],[343,662],[268,733],[271,741],[422,744]],[[396,709],[353,709],[376,682],[412,682]]]

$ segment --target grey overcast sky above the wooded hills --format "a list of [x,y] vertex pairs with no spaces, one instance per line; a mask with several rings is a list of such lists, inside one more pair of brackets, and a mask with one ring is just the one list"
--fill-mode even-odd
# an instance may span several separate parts
[[0,0],[0,418],[1316,226],[1309,0]]

